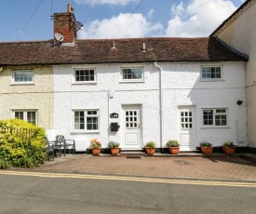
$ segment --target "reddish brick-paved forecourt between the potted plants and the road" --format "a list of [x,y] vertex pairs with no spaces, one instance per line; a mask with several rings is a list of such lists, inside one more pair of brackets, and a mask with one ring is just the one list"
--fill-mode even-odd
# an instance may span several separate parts
[[44,172],[256,182],[256,154],[180,153],[104,155],[66,154],[41,167]]

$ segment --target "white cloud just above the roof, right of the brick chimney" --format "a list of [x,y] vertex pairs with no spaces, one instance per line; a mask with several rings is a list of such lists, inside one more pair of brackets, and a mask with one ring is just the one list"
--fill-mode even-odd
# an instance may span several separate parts
[[148,22],[141,14],[119,14],[105,20],[94,20],[84,30],[78,32],[79,38],[131,38],[144,37],[162,30],[159,22]]

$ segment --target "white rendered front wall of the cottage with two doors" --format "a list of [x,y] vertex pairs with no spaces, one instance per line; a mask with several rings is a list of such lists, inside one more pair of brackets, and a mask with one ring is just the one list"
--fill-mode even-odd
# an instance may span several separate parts
[[[159,63],[163,68],[163,146],[170,139],[179,139],[179,106],[193,105],[196,112],[196,142],[208,140],[214,145],[223,141],[236,142],[236,132],[240,145],[247,145],[245,71],[243,62],[208,63],[222,65],[223,80],[204,82],[200,80],[202,63]],[[203,65],[206,65],[203,63]],[[88,68],[91,65],[80,65]],[[143,83],[121,83],[120,67],[123,64],[96,65],[97,84],[73,84],[73,68],[77,66],[55,66],[54,109],[55,134],[63,134],[76,141],[77,151],[86,151],[91,139],[97,137],[102,147],[109,140],[121,142],[122,132],[109,131],[111,122],[121,124],[122,105],[140,104],[142,121],[142,142],[155,140],[160,147],[159,125],[159,70],[154,64],[140,64],[144,70]],[[134,65],[127,65],[126,67]],[[109,98],[109,91],[114,95]],[[243,100],[238,106],[237,100]],[[228,108],[228,127],[203,128],[202,108]],[[73,131],[74,109],[99,109],[100,132],[75,133]],[[117,113],[119,118],[109,118]],[[236,126],[237,124],[237,126]]]

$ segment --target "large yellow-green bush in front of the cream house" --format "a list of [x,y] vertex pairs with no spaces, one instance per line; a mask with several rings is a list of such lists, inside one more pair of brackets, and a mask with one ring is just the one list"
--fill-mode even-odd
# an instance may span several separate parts
[[0,120],[0,168],[38,167],[46,157],[46,132],[19,119]]

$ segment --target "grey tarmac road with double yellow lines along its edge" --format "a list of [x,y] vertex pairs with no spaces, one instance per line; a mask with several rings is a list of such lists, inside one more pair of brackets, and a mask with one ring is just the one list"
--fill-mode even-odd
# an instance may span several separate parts
[[256,182],[0,170],[0,213],[256,212]]

